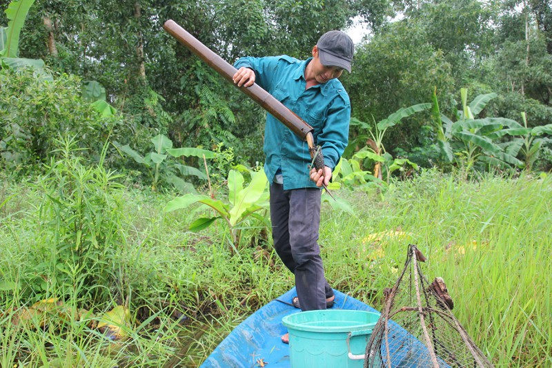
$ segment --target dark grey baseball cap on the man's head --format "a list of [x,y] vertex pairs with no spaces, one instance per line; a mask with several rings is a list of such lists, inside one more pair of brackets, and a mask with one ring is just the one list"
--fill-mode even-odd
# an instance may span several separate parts
[[324,33],[316,44],[320,62],[324,66],[339,66],[351,72],[355,44],[351,37],[340,30]]

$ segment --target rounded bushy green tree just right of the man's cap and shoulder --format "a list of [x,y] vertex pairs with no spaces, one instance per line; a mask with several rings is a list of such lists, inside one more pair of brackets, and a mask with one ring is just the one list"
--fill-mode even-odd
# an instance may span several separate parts
[[[360,46],[353,68],[343,79],[353,116],[362,121],[378,121],[400,108],[430,101],[434,86],[444,95],[452,89],[450,64],[442,52],[426,43],[420,26],[408,19],[392,23]],[[420,145],[423,126],[423,115],[409,118],[400,128],[389,129],[384,145],[391,152],[397,146],[409,151]],[[361,134],[351,129],[351,139]]]

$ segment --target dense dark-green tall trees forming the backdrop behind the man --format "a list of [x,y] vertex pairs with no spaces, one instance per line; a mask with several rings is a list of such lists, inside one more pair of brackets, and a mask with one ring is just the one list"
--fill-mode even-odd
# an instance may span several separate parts
[[[161,133],[176,146],[222,142],[253,166],[263,161],[264,113],[166,34],[166,19],[230,62],[308,57],[319,35],[355,19],[370,33],[344,76],[354,117],[379,121],[431,102],[434,88],[442,113],[455,115],[457,91],[468,88],[469,99],[498,94],[486,116],[520,122],[525,112],[529,126],[540,126],[552,122],[550,13],[549,1],[45,1],[30,7],[20,57],[99,81],[126,124],[150,130],[124,142],[137,151]],[[387,151],[429,166],[437,132],[428,119],[416,115],[391,129]],[[353,137],[361,133],[353,128]],[[552,160],[547,146],[543,151],[539,168]]]

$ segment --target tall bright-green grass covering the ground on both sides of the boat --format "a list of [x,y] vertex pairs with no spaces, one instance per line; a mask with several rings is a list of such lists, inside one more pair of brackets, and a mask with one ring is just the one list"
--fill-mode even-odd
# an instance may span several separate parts
[[[92,257],[100,274],[94,264],[79,271],[53,257],[61,225],[40,205],[42,186],[2,180],[1,367],[197,367],[239,322],[293,287],[262,226],[246,229],[235,253],[222,222],[190,233],[197,213],[163,213],[171,195],[108,195],[118,204],[102,207],[111,212],[101,221],[117,236]],[[466,182],[426,171],[383,195],[334,195],[355,216],[322,209],[319,243],[333,287],[381,309],[408,243],[417,244],[426,278],[444,278],[456,318],[497,367],[552,365],[551,177]],[[21,322],[23,311],[52,297],[71,318],[56,310]],[[112,341],[94,322],[121,304],[131,315],[127,336]],[[94,317],[79,319],[82,308]]]

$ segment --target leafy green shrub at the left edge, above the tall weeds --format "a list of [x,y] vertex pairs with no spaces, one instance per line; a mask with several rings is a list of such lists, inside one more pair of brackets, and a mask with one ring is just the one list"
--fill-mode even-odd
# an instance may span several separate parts
[[79,138],[81,155],[99,157],[117,117],[102,116],[81,97],[81,80],[59,75],[48,81],[31,70],[0,73],[0,155],[11,170],[30,170],[48,162],[54,140],[70,132]]

